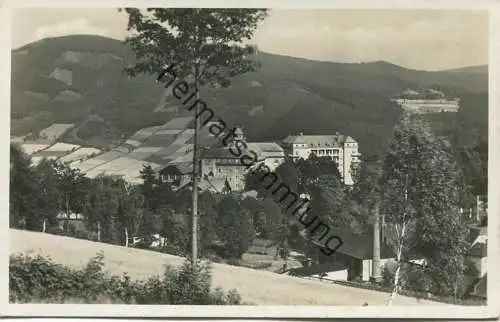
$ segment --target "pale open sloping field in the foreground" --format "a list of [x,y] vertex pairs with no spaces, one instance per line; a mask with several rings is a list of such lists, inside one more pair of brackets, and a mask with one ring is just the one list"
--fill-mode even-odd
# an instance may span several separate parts
[[[132,278],[163,273],[165,264],[180,265],[183,258],[152,251],[125,248],[87,240],[10,229],[10,254],[32,252],[55,262],[82,267],[102,251],[105,270]],[[212,264],[213,286],[238,290],[244,302],[256,305],[385,305],[388,294],[311,281],[276,273],[224,264]],[[394,305],[444,305],[397,296]]]

